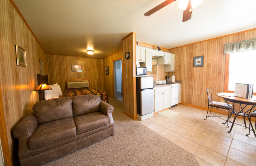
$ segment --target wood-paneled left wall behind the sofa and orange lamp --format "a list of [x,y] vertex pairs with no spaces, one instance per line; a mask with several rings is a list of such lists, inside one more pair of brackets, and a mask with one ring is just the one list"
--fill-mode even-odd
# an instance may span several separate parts
[[[39,58],[43,60],[44,73],[48,74],[47,57],[9,0],[1,0],[0,18],[0,100],[3,101],[8,145],[12,157],[12,163],[7,164],[16,165],[18,140],[12,137],[12,130],[23,117],[32,112],[32,106],[39,100],[38,92],[33,90],[37,87],[36,75],[40,73]],[[16,65],[15,44],[26,50],[27,67]]]

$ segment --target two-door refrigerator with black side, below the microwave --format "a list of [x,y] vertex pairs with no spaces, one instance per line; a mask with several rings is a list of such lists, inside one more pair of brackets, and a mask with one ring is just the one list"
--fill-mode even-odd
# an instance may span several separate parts
[[137,117],[139,120],[153,117],[153,87],[153,77],[136,77]]

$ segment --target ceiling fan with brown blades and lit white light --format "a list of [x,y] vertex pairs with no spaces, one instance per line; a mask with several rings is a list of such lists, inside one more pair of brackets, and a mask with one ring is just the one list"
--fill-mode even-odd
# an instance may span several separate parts
[[[144,13],[144,16],[150,16],[151,14],[155,13],[156,11],[162,9],[163,7],[167,6],[168,4],[171,4],[176,0],[166,0],[162,4],[157,5],[150,11]],[[202,0],[180,0],[180,4],[178,5],[178,8],[183,9],[183,19],[182,22],[188,21],[191,18],[192,9],[194,9],[196,6],[201,4]]]

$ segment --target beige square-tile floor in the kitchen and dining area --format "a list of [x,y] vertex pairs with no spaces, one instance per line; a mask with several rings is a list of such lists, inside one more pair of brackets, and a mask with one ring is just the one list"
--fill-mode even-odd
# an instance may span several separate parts
[[[255,165],[256,138],[252,132],[248,137],[245,135],[248,129],[236,125],[228,133],[228,126],[222,124],[224,120],[218,117],[204,120],[205,110],[181,104],[171,110],[179,114],[169,119],[155,114],[139,122],[195,155],[201,166]],[[236,119],[238,123],[243,121]]]

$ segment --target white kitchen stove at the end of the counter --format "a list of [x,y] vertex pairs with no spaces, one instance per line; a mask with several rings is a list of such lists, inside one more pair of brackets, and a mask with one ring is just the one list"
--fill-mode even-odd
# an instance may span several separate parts
[[179,84],[171,83],[171,82],[166,83],[165,80],[161,80],[158,82],[163,85],[171,86],[171,108],[172,106],[175,107],[178,104],[178,100],[179,100]]

